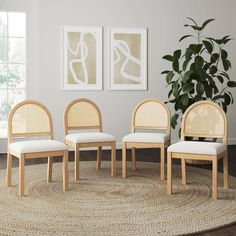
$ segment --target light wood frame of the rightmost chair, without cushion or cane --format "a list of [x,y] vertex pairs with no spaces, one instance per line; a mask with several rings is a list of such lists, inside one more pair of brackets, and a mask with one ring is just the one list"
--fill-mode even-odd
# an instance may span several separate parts
[[[211,105],[220,111],[224,120],[224,133],[223,135],[210,135],[210,134],[190,134],[185,132],[185,121],[189,112],[199,105]],[[186,137],[205,137],[211,139],[222,139],[223,144],[226,145],[226,150],[218,155],[206,155],[206,154],[193,154],[193,153],[178,153],[178,152],[168,152],[167,153],[167,194],[172,194],[172,159],[181,159],[181,171],[182,171],[182,184],[187,184],[187,174],[186,174],[186,159],[191,160],[206,160],[212,162],[212,199],[217,199],[218,195],[218,160],[223,158],[223,175],[224,175],[224,188],[229,187],[228,180],[228,149],[227,149],[227,117],[223,109],[216,103],[212,101],[199,101],[191,105],[184,113],[183,120],[181,123],[181,141],[184,141]]]

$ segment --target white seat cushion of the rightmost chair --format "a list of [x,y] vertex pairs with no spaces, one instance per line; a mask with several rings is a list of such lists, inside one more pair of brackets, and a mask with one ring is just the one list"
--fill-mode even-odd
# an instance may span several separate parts
[[226,150],[223,143],[181,141],[168,147],[168,152],[218,155]]

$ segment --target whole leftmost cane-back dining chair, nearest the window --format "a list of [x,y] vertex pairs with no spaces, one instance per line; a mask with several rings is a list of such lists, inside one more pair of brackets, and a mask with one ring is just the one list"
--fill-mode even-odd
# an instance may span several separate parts
[[[22,140],[23,139],[23,140]],[[12,157],[19,159],[19,196],[25,195],[25,161],[48,157],[47,181],[52,181],[54,156],[63,157],[63,190],[68,189],[67,146],[54,140],[52,117],[41,103],[26,100],[18,103],[8,118],[7,186],[12,182]]]

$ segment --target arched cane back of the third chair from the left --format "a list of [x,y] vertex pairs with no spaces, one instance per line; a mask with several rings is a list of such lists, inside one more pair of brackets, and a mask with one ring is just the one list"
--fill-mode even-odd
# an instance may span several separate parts
[[141,101],[133,111],[132,131],[137,129],[166,130],[170,134],[170,111],[157,99]]

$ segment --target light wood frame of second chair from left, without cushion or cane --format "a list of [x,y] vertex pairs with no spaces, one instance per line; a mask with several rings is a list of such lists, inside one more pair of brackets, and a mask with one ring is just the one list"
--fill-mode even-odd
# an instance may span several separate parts
[[[73,105],[76,103],[80,102],[85,102],[90,105],[92,105],[98,113],[99,116],[99,124],[98,125],[93,125],[93,126],[69,126],[68,125],[68,113]],[[98,106],[91,100],[86,99],[86,98],[78,98],[73,100],[69,105],[66,107],[64,111],[64,134],[65,134],[65,139],[64,142],[73,147],[75,151],[75,180],[79,180],[79,169],[80,169],[80,149],[82,148],[88,148],[88,147],[97,147],[97,162],[96,162],[96,170],[101,169],[101,159],[102,159],[102,147],[104,146],[110,146],[111,147],[111,176],[116,176],[117,171],[116,171],[116,141],[106,141],[106,142],[86,142],[86,143],[76,143],[76,142],[71,142],[66,140],[66,135],[69,134],[69,131],[75,131],[75,130],[98,130],[99,132],[103,132],[103,127],[102,127],[102,115],[101,111],[98,108]]]

